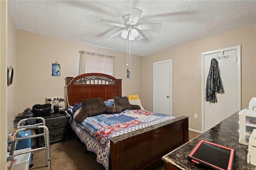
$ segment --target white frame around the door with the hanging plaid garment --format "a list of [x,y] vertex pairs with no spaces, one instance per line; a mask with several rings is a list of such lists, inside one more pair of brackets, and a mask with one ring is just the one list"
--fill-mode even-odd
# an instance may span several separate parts
[[237,72],[236,72],[236,76],[237,76],[237,111],[241,110],[241,45],[237,45],[237,46],[233,46],[233,47],[228,47],[228,48],[223,48],[223,49],[217,49],[214,51],[208,51],[208,52],[204,52],[201,55],[201,72],[202,72],[202,77],[201,77],[201,89],[202,89],[202,132],[204,132],[204,100],[205,100],[205,89],[204,89],[204,55],[207,54],[212,54],[212,53],[217,53],[220,51],[228,51],[228,50],[232,50],[232,49],[236,49],[236,55],[237,55],[237,62],[236,62],[236,67],[237,67]]

